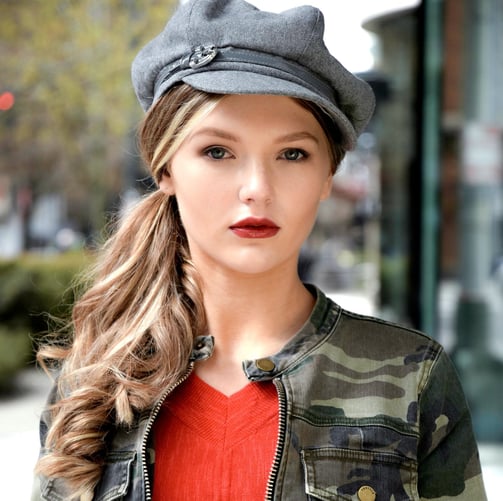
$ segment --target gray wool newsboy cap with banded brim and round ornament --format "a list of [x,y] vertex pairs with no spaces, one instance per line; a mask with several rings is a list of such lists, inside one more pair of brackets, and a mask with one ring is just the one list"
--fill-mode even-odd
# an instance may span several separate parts
[[323,42],[323,14],[311,6],[280,14],[243,0],[190,0],[136,56],[133,86],[148,110],[173,85],[218,94],[278,94],[317,104],[353,149],[374,110],[370,86]]

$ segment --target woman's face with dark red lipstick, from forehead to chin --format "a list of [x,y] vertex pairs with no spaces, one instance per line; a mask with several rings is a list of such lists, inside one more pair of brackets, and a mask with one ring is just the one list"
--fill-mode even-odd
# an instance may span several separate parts
[[238,274],[296,270],[332,182],[316,118],[269,95],[226,96],[190,131],[168,172],[160,187],[177,198],[196,267]]

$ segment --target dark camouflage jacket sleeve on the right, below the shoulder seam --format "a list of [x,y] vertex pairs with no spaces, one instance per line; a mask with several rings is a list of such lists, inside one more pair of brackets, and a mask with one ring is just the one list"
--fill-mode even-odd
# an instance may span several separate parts
[[487,501],[470,411],[441,350],[419,398],[418,490],[422,500]]

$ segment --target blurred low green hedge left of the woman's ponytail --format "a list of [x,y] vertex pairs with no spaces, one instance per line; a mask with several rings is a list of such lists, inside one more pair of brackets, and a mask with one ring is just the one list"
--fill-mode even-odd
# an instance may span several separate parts
[[33,346],[68,318],[76,278],[91,262],[86,252],[26,254],[0,260],[0,385],[34,359]]

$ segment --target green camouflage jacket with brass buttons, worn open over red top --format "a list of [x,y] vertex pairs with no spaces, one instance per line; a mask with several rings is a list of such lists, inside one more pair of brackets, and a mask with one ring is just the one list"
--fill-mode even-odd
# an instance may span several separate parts
[[[250,381],[273,380],[278,390],[266,500],[486,500],[469,411],[442,347],[316,294],[309,321],[281,352],[243,364]],[[196,340],[184,377],[212,347],[210,337]],[[151,499],[150,431],[172,390],[115,433],[94,500]],[[33,499],[65,499],[64,486],[41,479]]]

